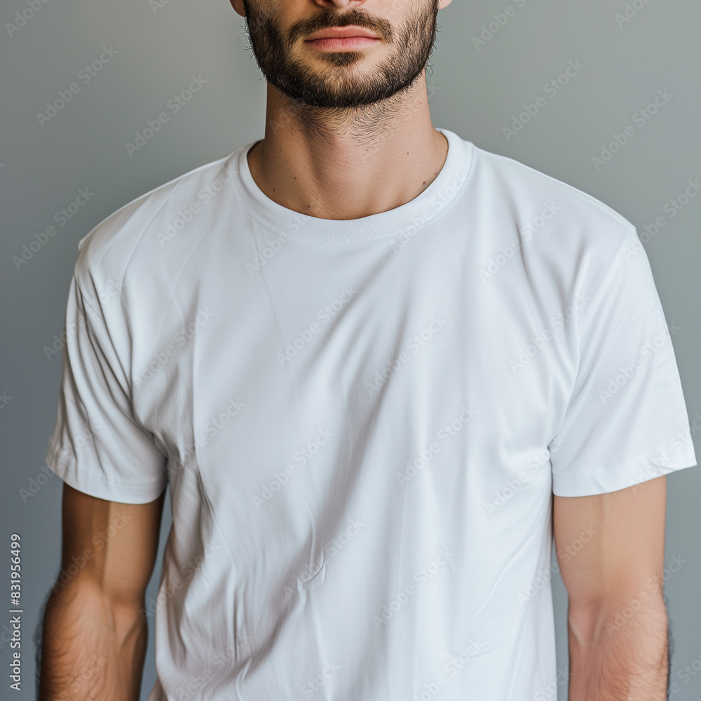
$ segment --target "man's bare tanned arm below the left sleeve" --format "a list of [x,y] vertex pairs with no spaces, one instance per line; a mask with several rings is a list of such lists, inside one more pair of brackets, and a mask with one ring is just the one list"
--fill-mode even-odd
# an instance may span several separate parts
[[165,490],[148,504],[63,485],[61,572],[46,604],[39,701],[137,701],[147,645],[139,615]]

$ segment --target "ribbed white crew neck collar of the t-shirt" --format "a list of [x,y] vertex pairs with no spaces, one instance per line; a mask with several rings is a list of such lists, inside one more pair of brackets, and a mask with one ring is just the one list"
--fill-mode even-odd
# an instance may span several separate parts
[[[263,220],[274,231],[286,231],[290,239],[299,242],[320,246],[352,245],[419,229],[456,198],[469,176],[473,144],[447,129],[437,130],[448,139],[448,154],[434,181],[413,200],[359,219],[310,217],[271,200],[253,179],[248,165],[248,151],[260,139],[246,144],[232,156],[245,197],[252,200],[250,213],[255,219]],[[288,222],[297,226],[288,226]]]

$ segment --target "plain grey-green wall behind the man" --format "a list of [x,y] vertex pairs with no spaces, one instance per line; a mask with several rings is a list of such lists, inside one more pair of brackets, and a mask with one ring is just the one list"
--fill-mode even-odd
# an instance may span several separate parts
[[[371,0],[366,7],[379,11],[383,1]],[[18,700],[35,696],[32,633],[60,562],[62,482],[46,480],[26,502],[20,489],[28,489],[29,480],[43,474],[61,362],[60,355],[48,360],[43,347],[62,332],[76,244],[121,205],[264,135],[265,83],[245,48],[242,18],[226,0],[161,4],[154,10],[148,0],[46,0],[12,36],[6,26],[0,28],[0,393],[5,393],[0,399],[5,487],[0,520],[6,548],[10,533],[22,536],[25,669],[22,691],[12,696]],[[454,0],[441,12],[428,75],[433,123],[569,182],[636,224],[667,322],[680,328],[674,349],[693,421],[695,412],[701,412],[701,283],[695,274],[701,197],[690,200],[674,218],[663,207],[683,192],[688,179],[701,177],[701,6],[697,0],[631,0],[630,6],[639,10],[629,11],[630,21],[620,26],[615,15],[625,12],[622,0],[518,0],[511,5],[515,16],[479,50],[472,36],[479,36],[482,25],[494,20],[493,13],[503,12],[507,1]],[[27,0],[8,0],[0,11],[1,22],[14,23],[15,13],[26,8]],[[100,56],[103,45],[118,53],[90,83],[77,81],[80,69]],[[557,79],[570,60],[578,60],[583,69],[550,99],[543,86]],[[125,142],[133,142],[135,131],[165,109],[191,74],[201,74],[207,84],[129,156]],[[79,93],[40,125],[36,114],[46,112],[46,101],[76,81]],[[657,90],[669,90],[673,97],[644,128],[637,127],[632,116]],[[507,139],[502,128],[538,95],[545,97],[546,106]],[[620,134],[629,124],[636,130],[634,137],[595,170],[592,156],[599,156],[614,132]],[[34,233],[55,224],[54,213],[71,203],[79,188],[94,196],[17,269],[12,257],[21,255]],[[644,225],[659,216],[665,217],[666,226],[653,237],[642,236]],[[695,448],[701,454],[697,440]],[[666,586],[675,639],[672,679],[678,685],[672,698],[691,701],[701,697],[701,673],[685,683],[677,672],[694,660],[701,667],[701,472],[682,470],[667,481],[665,562],[675,554],[687,561]],[[156,595],[170,522],[167,501],[159,564],[148,597]],[[8,563],[7,550],[1,557]],[[2,565],[6,574],[8,567]],[[566,670],[566,594],[559,577],[553,582],[558,667]],[[9,614],[0,616],[1,631]],[[152,624],[150,635],[142,699],[155,679]],[[0,695],[9,698],[8,653],[4,643]],[[564,683],[558,698],[566,698]]]

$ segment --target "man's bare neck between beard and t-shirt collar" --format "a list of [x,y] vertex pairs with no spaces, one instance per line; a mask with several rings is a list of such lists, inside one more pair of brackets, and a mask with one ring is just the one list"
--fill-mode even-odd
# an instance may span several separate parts
[[435,179],[447,139],[433,128],[426,74],[383,104],[346,114],[301,107],[268,85],[265,139],[248,153],[266,196],[322,219],[358,219],[413,200]]

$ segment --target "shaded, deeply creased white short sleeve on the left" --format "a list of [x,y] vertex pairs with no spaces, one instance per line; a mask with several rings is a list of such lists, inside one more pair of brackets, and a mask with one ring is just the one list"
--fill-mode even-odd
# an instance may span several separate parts
[[102,313],[83,297],[74,273],[46,465],[69,486],[91,496],[148,503],[168,482],[166,456],[135,419],[125,366],[113,342],[115,332],[110,333]]

